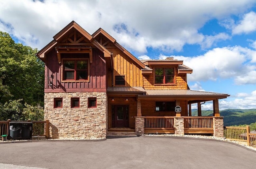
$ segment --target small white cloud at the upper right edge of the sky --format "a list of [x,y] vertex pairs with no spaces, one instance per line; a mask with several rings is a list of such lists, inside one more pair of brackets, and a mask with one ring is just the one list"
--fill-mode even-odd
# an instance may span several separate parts
[[256,31],[256,13],[249,12],[244,15],[238,25],[234,26],[232,34],[248,34],[254,31]]

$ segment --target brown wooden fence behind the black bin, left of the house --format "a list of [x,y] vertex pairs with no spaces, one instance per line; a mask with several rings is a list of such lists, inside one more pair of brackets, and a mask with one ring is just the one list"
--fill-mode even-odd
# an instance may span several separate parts
[[[8,135],[9,132],[9,123],[11,121],[0,121],[0,138],[2,135]],[[12,121],[15,122],[15,121]],[[32,136],[45,136],[48,139],[49,136],[49,120],[46,121],[19,121],[19,122],[32,122],[33,129],[32,129]]]

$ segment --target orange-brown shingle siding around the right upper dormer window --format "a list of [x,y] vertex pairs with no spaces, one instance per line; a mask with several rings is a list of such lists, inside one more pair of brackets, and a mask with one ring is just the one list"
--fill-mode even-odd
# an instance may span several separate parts
[[[156,66],[156,67],[160,67],[160,66]],[[167,66],[165,66],[167,67]],[[154,70],[154,67],[152,68]],[[175,67],[175,84],[174,85],[155,85],[154,84],[154,71],[152,74],[150,75],[145,75],[143,77],[143,87],[146,90],[166,90],[166,89],[170,89],[170,90],[182,90],[182,89],[187,89],[187,80],[186,80],[186,74],[178,74],[178,68]]]

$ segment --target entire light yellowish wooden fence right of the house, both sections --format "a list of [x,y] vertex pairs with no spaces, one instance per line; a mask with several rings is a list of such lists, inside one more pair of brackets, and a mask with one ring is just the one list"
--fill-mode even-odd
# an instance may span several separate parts
[[224,127],[224,137],[235,141],[247,142],[247,145],[256,147],[256,134],[250,133],[250,126]]

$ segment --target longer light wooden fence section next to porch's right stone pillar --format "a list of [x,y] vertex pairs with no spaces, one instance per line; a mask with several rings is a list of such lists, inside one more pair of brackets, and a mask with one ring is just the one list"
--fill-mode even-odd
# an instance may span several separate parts
[[224,127],[224,137],[230,140],[247,141],[248,127]]

